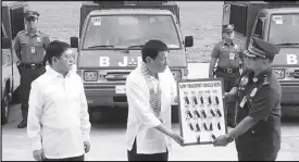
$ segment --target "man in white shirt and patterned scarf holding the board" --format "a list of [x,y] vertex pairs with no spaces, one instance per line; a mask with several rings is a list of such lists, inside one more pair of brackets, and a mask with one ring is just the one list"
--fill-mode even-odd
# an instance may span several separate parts
[[184,139],[171,128],[171,103],[176,100],[176,85],[167,66],[169,48],[160,40],[149,40],[142,62],[126,80],[128,119],[126,147],[128,161],[167,161],[172,139]]

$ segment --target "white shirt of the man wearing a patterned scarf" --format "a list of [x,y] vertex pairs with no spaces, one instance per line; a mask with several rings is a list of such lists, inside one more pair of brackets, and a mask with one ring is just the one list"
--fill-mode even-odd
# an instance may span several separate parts
[[[162,87],[160,119],[163,121],[163,125],[171,129],[171,103],[176,96],[176,85],[169,67],[159,74],[159,83]],[[157,84],[153,85],[158,86]],[[141,66],[128,75],[126,96],[128,101],[127,149],[132,150],[136,138],[137,153],[153,154],[166,152],[166,148],[170,150],[172,139],[154,128],[161,122],[150,107],[149,88],[141,73]]]

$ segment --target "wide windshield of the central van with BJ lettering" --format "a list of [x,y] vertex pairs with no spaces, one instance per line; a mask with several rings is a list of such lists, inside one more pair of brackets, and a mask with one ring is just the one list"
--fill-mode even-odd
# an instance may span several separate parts
[[84,49],[141,48],[150,39],[162,40],[170,49],[180,48],[174,20],[167,15],[92,16],[83,41]]

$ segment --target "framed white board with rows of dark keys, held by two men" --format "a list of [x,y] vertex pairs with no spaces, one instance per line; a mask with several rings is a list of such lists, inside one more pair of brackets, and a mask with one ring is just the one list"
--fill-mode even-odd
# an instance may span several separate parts
[[183,146],[212,144],[227,133],[223,87],[222,78],[177,83]]

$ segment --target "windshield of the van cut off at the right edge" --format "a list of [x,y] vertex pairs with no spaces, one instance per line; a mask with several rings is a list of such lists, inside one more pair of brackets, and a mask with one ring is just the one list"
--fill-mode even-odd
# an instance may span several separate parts
[[275,45],[299,45],[299,13],[271,16],[269,41]]

